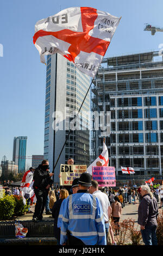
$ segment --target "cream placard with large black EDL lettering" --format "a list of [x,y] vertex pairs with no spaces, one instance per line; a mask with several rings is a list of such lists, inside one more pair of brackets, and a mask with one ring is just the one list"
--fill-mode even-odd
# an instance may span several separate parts
[[86,172],[86,165],[61,164],[60,165],[60,186],[71,186],[76,178],[80,178],[82,173]]

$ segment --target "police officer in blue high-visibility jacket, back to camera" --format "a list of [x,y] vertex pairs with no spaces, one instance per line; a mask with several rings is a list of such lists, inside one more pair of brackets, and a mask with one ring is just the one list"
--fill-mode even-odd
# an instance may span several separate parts
[[91,175],[82,173],[78,182],[77,193],[65,200],[60,244],[66,244],[68,233],[68,245],[106,245],[102,206],[88,191]]

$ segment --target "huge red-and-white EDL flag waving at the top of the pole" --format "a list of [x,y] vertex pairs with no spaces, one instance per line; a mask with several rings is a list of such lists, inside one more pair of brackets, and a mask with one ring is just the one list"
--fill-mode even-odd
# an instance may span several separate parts
[[40,53],[60,53],[94,77],[121,18],[91,7],[72,7],[36,22],[33,42]]

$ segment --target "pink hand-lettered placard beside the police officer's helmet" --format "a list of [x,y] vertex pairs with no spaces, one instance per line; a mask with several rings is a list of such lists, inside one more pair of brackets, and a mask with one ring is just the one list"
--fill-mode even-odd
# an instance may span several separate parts
[[98,182],[99,187],[115,187],[115,167],[93,166],[92,178]]

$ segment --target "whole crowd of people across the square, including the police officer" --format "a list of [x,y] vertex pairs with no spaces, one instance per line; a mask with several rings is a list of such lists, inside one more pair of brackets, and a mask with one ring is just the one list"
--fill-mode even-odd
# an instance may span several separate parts
[[[73,163],[73,159],[67,161],[67,164]],[[162,186],[157,184],[150,187],[146,184],[129,187],[124,184],[115,190],[112,187],[98,187],[98,182],[92,180],[89,173],[82,173],[80,178],[73,180],[71,187],[59,187],[57,184],[54,188],[54,174],[49,172],[47,160],[43,160],[36,169],[31,167],[24,176],[27,174],[31,176],[30,182],[34,180],[36,203],[33,222],[42,221],[45,209],[46,214],[52,214],[58,245],[106,245],[110,241],[116,245],[115,236],[118,235],[122,208],[132,202],[135,204],[136,197],[139,199],[138,223],[142,239],[145,245],[157,244],[156,218],[159,199],[162,207]],[[5,194],[9,193],[9,190],[5,191]],[[18,187],[12,194],[20,195]],[[24,197],[26,195],[27,191]],[[115,234],[111,220],[115,223]]]

